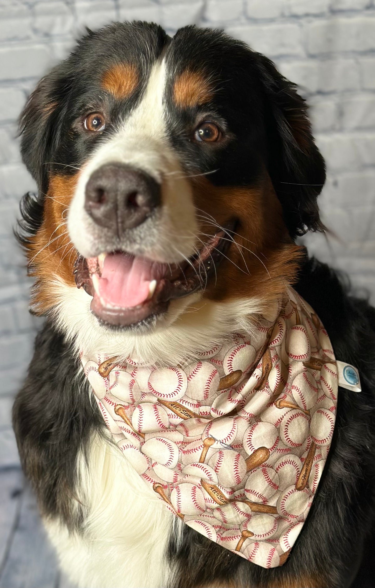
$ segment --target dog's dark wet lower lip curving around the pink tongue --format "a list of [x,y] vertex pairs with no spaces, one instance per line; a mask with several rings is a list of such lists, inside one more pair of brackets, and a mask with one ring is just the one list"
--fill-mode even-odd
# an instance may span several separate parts
[[187,296],[205,285],[231,244],[234,224],[234,221],[228,222],[184,265],[167,265],[168,272],[150,281],[147,298],[137,305],[125,308],[101,297],[99,277],[107,253],[101,253],[97,258],[79,257],[75,263],[75,282],[78,288],[83,287],[92,296],[91,310],[101,322],[118,327],[137,325],[151,315],[165,312],[171,299]]

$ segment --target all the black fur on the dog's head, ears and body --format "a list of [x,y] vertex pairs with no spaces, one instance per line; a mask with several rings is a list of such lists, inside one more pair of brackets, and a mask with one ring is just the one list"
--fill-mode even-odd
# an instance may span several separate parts
[[[185,27],[171,41],[157,25],[135,23],[89,32],[29,99],[21,118],[22,156],[38,182],[39,194],[35,199],[24,197],[22,230],[34,234],[41,225],[49,173],[75,173],[97,141],[113,132],[120,112],[125,116],[134,108],[150,69],[144,64],[169,45],[174,73],[194,64],[204,68],[219,88],[204,109],[184,112],[172,104],[171,93],[165,96],[170,139],[185,168],[198,172],[220,168],[210,176],[217,185],[253,185],[266,162],[290,235],[323,229],[317,195],[325,179],[324,162],[295,86],[268,59],[221,32]],[[98,91],[99,76],[114,55],[117,61],[121,55],[132,55],[142,72],[135,95],[120,104]],[[170,89],[171,84],[172,79]],[[111,124],[103,138],[79,131],[77,121],[87,108],[107,113]],[[205,153],[191,145],[186,131],[204,112],[228,125],[232,133],[223,148]],[[171,540],[169,550],[175,588],[207,586],[214,580],[244,587],[288,586],[304,575],[322,577],[324,586],[342,588],[350,585],[359,566],[375,515],[375,310],[351,297],[337,275],[315,260],[305,260],[296,288],[323,321],[337,359],[359,368],[363,392],[340,390],[327,466],[286,564],[262,569],[185,526],[182,547]],[[69,529],[79,531],[85,516],[84,507],[75,500],[75,461],[80,450],[87,452],[92,433],[100,433],[102,426],[78,358],[49,320],[36,338],[34,358],[15,402],[14,428],[22,466],[42,512],[61,517]]]

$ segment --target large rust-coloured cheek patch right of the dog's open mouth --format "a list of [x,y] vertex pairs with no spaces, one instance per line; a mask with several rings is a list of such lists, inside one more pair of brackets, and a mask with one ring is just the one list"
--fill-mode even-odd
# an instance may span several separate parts
[[270,178],[264,173],[254,188],[213,186],[205,178],[194,183],[195,205],[199,215],[207,216],[207,220],[198,216],[204,235],[215,232],[210,215],[219,225],[231,218],[239,220],[229,259],[221,263],[216,285],[211,280],[204,298],[256,298],[267,313],[268,306],[271,310],[275,298],[285,292],[285,283],[296,281],[302,255],[288,235]]

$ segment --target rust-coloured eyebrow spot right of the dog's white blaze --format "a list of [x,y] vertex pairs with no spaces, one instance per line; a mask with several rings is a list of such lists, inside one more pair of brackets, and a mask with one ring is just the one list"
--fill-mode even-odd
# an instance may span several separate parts
[[185,69],[175,79],[173,97],[177,106],[187,108],[210,102],[213,91],[203,72]]

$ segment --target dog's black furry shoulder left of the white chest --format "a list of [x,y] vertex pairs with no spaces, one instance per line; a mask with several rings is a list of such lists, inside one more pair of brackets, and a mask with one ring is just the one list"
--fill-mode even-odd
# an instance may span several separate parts
[[74,500],[77,455],[89,449],[102,421],[77,354],[49,322],[36,336],[15,399],[13,426],[22,467],[42,513],[61,517],[69,527],[79,525],[83,513]]

